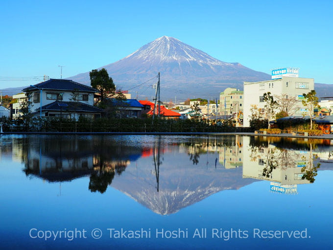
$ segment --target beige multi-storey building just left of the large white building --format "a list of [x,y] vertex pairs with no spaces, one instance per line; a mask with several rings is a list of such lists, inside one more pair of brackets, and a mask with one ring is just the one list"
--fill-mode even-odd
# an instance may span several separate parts
[[244,92],[236,88],[226,88],[220,93],[220,115],[239,114],[243,111]]

